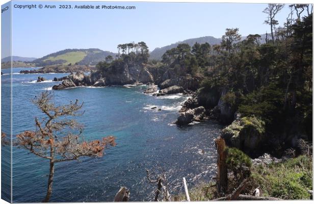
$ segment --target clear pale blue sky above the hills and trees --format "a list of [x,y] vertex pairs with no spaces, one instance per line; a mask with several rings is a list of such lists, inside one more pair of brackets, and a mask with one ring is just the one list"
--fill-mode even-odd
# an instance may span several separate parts
[[[269,33],[264,24],[267,4],[13,2],[14,5],[56,5],[56,9],[12,8],[12,55],[40,58],[66,48],[100,48],[147,43],[149,50],[203,36],[220,38],[226,28],[243,36]],[[58,5],[72,9],[59,9]],[[75,5],[135,6],[135,10],[74,9]],[[289,9],[277,14],[280,24]],[[2,56],[3,58],[3,56]]]

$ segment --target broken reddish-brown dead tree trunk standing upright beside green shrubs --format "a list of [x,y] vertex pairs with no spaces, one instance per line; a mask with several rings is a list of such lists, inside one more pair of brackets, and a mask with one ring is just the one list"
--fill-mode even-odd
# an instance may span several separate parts
[[216,187],[220,195],[225,195],[228,187],[225,140],[221,137],[216,139],[217,148],[217,180]]

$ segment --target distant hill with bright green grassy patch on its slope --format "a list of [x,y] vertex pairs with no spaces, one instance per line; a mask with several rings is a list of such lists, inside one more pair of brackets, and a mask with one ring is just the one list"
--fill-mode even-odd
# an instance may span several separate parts
[[96,65],[99,61],[104,60],[107,56],[115,57],[115,53],[103,51],[101,49],[64,49],[57,53],[46,55],[42,58],[36,59],[33,63],[37,66],[48,65]]

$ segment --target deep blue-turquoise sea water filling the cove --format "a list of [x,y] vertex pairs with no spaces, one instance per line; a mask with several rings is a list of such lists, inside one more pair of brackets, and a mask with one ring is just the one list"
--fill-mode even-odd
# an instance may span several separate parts
[[[13,73],[19,70],[15,68]],[[13,135],[34,129],[34,117],[41,113],[30,100],[49,90],[56,104],[84,101],[85,114],[77,120],[85,125],[85,139],[107,135],[117,138],[117,146],[107,149],[102,158],[56,164],[51,202],[113,201],[121,186],[130,189],[131,201],[152,200],[155,185],[147,182],[145,168],[162,167],[171,193],[184,192],[183,176],[193,187],[211,181],[215,175],[213,140],[222,126],[216,121],[185,127],[172,124],[187,96],[154,97],[143,94],[144,86],[55,91],[51,87],[59,82],[51,80],[68,74],[40,75],[47,81],[35,83],[39,74],[13,74]],[[3,75],[2,80],[9,77]],[[154,106],[162,111],[150,109]],[[45,159],[13,147],[13,202],[41,201],[46,192],[48,167]]]

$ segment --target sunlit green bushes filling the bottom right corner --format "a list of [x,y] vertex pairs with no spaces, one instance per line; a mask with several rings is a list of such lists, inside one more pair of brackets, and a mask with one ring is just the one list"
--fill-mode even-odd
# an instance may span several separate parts
[[282,163],[252,169],[250,183],[260,186],[264,196],[282,199],[309,199],[312,190],[312,158],[299,156]]

